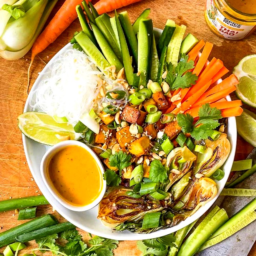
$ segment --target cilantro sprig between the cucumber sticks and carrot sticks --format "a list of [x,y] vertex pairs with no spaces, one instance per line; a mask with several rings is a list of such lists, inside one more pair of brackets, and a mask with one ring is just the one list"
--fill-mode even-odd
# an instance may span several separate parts
[[181,54],[180,61],[175,68],[171,62],[167,63],[166,82],[169,84],[170,90],[188,88],[196,83],[198,76],[188,71],[195,67],[195,63],[193,60],[187,62],[188,58],[186,54]]

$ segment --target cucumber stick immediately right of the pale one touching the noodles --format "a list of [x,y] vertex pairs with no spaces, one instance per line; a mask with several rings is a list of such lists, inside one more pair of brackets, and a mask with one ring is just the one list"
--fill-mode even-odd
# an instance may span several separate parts
[[90,25],[93,30],[94,36],[98,42],[98,45],[102,50],[103,55],[105,56],[105,58],[107,59],[110,65],[115,65],[117,72],[119,72],[119,70],[123,68],[121,61],[119,61],[115,52],[112,50],[108,41],[106,40],[104,35],[100,32],[98,27],[93,23],[90,23]]

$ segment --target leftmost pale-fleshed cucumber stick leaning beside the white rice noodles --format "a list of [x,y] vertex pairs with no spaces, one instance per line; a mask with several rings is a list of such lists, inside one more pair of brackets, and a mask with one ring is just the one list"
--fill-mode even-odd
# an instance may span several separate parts
[[74,38],[100,70],[104,71],[107,67],[110,67],[109,62],[104,58],[102,53],[83,31],[76,34]]

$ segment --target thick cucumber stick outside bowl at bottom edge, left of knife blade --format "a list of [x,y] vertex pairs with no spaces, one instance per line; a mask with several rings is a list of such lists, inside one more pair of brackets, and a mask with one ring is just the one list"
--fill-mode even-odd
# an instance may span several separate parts
[[182,244],[177,256],[193,256],[211,234],[227,220],[228,215],[224,209],[214,208]]

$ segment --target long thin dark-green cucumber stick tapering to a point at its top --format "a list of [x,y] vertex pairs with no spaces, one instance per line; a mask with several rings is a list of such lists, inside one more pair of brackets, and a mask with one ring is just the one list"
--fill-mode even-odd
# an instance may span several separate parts
[[118,37],[119,37],[120,46],[121,46],[122,62],[124,64],[124,71],[125,71],[126,80],[127,80],[129,85],[132,85],[133,82],[134,82],[134,74],[133,74],[133,70],[132,70],[132,61],[131,61],[131,58],[130,58],[130,53],[129,53],[128,46],[127,46],[127,43],[126,43],[124,32],[122,30],[122,26],[119,22],[116,11],[115,11],[115,22],[117,24],[117,32],[118,32]]

